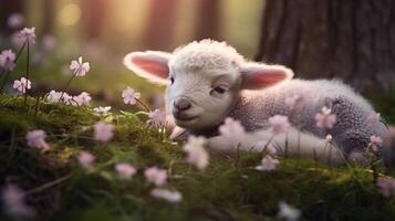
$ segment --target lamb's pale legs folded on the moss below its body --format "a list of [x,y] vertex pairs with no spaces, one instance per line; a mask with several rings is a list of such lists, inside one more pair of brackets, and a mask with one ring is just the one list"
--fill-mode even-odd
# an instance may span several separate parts
[[319,159],[332,165],[344,164],[342,152],[325,139],[319,138],[311,134],[298,131],[291,128],[288,134],[272,137],[270,130],[259,130],[253,134],[246,135],[240,139],[240,144],[233,144],[231,140],[222,136],[216,136],[208,139],[208,147],[217,151],[235,152],[239,150],[261,151],[253,146],[257,141],[272,140],[271,143],[278,146],[282,151],[285,150],[289,156],[300,156],[311,159]]

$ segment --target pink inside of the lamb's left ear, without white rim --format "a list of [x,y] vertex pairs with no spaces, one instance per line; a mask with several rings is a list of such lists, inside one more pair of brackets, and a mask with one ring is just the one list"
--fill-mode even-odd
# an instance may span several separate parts
[[166,78],[169,73],[167,64],[155,62],[153,60],[134,57],[132,59],[132,63],[148,73],[155,74],[160,78]]

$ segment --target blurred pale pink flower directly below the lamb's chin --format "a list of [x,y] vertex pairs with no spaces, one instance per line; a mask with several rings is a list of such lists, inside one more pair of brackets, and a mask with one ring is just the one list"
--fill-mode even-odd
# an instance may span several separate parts
[[187,162],[194,165],[197,169],[205,169],[208,166],[209,155],[204,145],[206,138],[189,136],[188,141],[184,145],[184,151],[187,152]]

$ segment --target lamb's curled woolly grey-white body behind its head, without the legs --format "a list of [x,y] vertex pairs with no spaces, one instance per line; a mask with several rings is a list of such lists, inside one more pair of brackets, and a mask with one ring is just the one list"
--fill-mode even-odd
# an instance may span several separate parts
[[[285,99],[295,94],[311,97],[302,102],[298,109],[291,110]],[[323,106],[330,107],[337,117],[331,129],[316,126],[314,116]],[[382,123],[367,124],[366,119],[372,114],[374,110],[368,102],[339,81],[292,80],[263,91],[242,92],[240,103],[229,116],[239,119],[248,131],[256,131],[268,128],[270,117],[284,115],[302,131],[319,137],[331,134],[336,145],[350,154],[363,151],[372,135],[381,136],[385,131]]]

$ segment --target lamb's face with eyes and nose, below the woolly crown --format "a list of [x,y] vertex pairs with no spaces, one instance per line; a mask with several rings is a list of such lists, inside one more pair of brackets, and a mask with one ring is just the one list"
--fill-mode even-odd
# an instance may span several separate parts
[[233,69],[171,67],[167,108],[175,123],[191,130],[219,124],[237,102],[240,77]]

